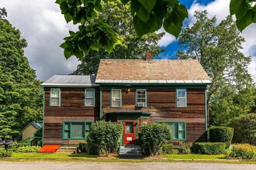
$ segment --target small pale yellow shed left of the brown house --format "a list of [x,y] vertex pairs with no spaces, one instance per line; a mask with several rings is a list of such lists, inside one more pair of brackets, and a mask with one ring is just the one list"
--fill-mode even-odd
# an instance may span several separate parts
[[26,125],[26,127],[22,129],[22,141],[25,141],[27,138],[34,138],[34,134],[36,131],[40,130],[42,126],[43,124],[36,122],[31,122]]

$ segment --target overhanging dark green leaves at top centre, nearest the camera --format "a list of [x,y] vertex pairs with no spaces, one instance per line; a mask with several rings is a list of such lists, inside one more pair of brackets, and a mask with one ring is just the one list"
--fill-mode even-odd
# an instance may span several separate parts
[[[90,51],[99,51],[100,48],[111,53],[116,44],[120,43],[120,37],[108,22],[94,20],[104,11],[104,5],[111,2],[110,0],[56,1],[66,21],[73,21],[74,25],[78,24],[79,29],[78,32],[70,32],[70,36],[64,38],[65,42],[61,44],[66,58],[74,55],[82,59]],[[185,5],[178,0],[122,0],[121,2],[124,5],[130,5],[133,26],[138,36],[155,32],[164,26],[167,32],[177,38],[182,29],[183,20],[188,18]],[[122,26],[120,22],[119,26]],[[126,32],[123,35],[125,34]]]

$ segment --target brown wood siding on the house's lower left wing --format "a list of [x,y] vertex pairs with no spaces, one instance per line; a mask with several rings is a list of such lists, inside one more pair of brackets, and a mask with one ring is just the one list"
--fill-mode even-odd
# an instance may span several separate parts
[[43,143],[77,145],[82,140],[62,140],[62,121],[98,121],[99,88],[95,107],[85,107],[85,88],[61,88],[61,106],[50,106],[50,87],[44,88]]

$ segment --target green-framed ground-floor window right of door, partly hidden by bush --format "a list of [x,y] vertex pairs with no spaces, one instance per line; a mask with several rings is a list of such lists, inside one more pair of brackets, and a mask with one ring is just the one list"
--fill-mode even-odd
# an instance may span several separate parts
[[172,141],[185,141],[186,139],[186,123],[185,122],[161,122],[169,124],[171,128]]

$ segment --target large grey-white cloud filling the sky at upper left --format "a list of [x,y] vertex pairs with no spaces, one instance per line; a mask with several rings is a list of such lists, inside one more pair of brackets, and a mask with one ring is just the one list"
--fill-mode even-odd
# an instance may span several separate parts
[[74,56],[65,59],[63,49],[59,47],[68,36],[68,30],[75,26],[67,25],[54,1],[1,0],[0,7],[6,8],[7,19],[27,40],[25,56],[40,80],[47,80],[54,74],[72,73],[76,69],[78,59]]

